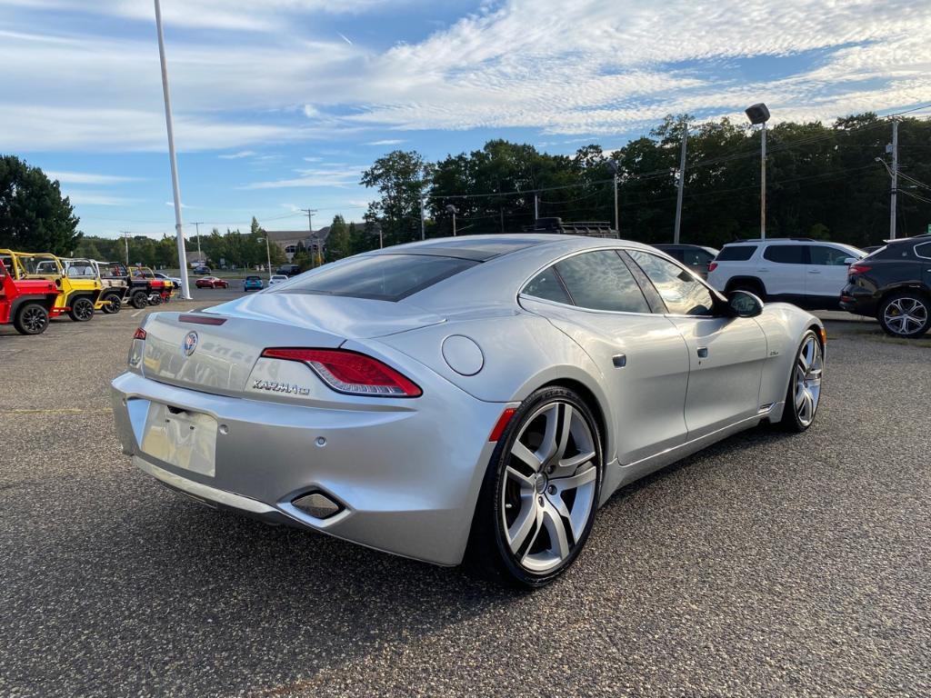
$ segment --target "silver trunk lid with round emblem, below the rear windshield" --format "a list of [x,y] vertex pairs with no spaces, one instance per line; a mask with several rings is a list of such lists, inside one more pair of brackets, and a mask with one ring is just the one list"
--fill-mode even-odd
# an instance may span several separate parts
[[208,313],[155,313],[146,332],[146,378],[207,393],[242,395],[268,347],[335,349],[442,322],[397,302],[320,295],[260,293]]

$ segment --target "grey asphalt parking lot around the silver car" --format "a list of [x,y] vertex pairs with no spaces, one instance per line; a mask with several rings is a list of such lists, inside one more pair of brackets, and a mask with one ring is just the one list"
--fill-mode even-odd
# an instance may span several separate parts
[[137,315],[0,327],[0,694],[931,694],[929,340],[830,322],[810,431],[622,490],[519,594],[134,470],[108,384]]

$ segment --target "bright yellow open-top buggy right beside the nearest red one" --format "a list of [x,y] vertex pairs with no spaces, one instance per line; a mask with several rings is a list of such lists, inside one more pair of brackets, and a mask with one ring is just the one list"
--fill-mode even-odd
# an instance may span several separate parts
[[[87,322],[95,310],[102,310],[103,284],[97,268],[89,260],[71,260],[65,266],[61,260],[47,252],[21,253],[20,262],[26,269],[26,278],[47,278],[59,289],[55,310],[66,312],[74,322]],[[83,263],[82,263],[83,262]]]

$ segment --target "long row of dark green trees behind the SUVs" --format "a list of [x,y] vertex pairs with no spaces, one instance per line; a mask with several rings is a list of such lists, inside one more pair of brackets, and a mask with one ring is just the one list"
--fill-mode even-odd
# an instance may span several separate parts
[[[721,247],[760,233],[759,128],[729,119],[687,127],[669,115],[649,135],[604,151],[592,144],[573,155],[533,145],[488,141],[480,150],[429,162],[416,151],[395,151],[361,178],[379,197],[365,220],[379,224],[385,244],[452,235],[506,233],[540,217],[614,222],[614,172],[622,237],[671,242],[681,139],[688,128],[681,242]],[[783,122],[767,134],[767,236],[832,239],[859,247],[889,234],[886,143],[891,123],[876,114],[820,122]],[[898,236],[920,235],[931,224],[931,121],[901,118],[898,126]],[[906,179],[908,178],[908,179]],[[544,190],[544,191],[541,191]],[[549,190],[549,191],[546,191]]]

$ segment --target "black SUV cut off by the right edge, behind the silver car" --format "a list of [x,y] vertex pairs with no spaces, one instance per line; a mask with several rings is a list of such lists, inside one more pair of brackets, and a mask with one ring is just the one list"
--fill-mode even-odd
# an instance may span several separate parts
[[931,328],[931,235],[889,240],[851,264],[841,307],[874,315],[895,337],[921,337]]

